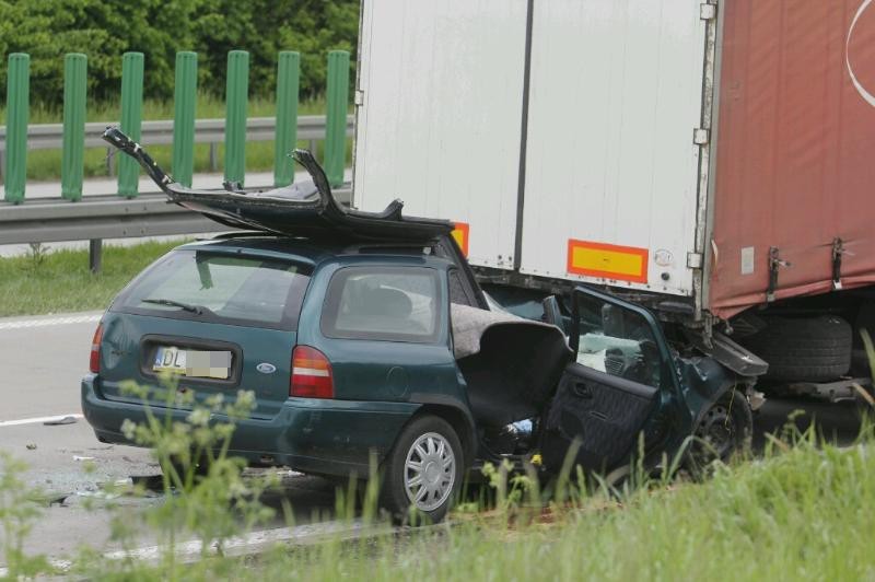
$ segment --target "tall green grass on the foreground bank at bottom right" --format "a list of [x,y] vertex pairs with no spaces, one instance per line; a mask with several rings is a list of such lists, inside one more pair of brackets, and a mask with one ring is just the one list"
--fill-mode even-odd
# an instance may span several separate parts
[[[871,580],[875,455],[803,446],[704,485],[595,498],[552,525],[466,525],[279,555],[267,580]],[[260,570],[260,571],[259,571]]]

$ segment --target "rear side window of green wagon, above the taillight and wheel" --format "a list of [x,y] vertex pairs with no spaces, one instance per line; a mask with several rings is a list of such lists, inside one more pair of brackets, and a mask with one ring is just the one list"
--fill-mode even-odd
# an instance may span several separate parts
[[438,271],[422,267],[346,267],[335,272],[322,333],[345,339],[430,344],[440,335]]

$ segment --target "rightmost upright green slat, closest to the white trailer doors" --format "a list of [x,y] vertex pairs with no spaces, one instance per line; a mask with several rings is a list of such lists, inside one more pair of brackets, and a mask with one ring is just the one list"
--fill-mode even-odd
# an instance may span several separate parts
[[328,53],[328,95],[325,119],[325,174],[331,186],[343,184],[347,163],[347,103],[349,101],[349,53]]

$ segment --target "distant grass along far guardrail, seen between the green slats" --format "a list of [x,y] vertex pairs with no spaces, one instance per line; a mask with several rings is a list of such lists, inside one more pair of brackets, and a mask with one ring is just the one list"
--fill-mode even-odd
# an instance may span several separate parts
[[[211,95],[198,95],[196,105],[196,116],[198,119],[223,118],[225,116],[225,104],[223,101]],[[325,100],[317,98],[302,102],[299,105],[299,115],[324,115]],[[253,98],[248,103],[247,115],[249,117],[272,117],[276,115],[276,103],[273,100]],[[5,110],[0,108],[0,118],[5,119]],[[117,124],[120,119],[118,103],[89,104],[86,113],[88,121],[103,121],[107,125]],[[162,102],[148,100],[143,103],[143,120],[173,119],[173,102]],[[49,109],[45,107],[34,107],[31,109],[31,124],[59,124],[62,120],[60,109]],[[171,170],[172,148],[170,146],[149,147],[149,152],[165,170]],[[306,141],[299,141],[300,148],[308,148]],[[318,144],[318,155],[322,155],[323,144]],[[347,147],[348,161],[351,160],[351,140]],[[210,147],[207,143],[195,144],[195,172],[221,172],[224,167],[224,146],[219,144],[217,153],[217,167],[210,164]],[[60,150],[34,150],[27,152],[27,179],[28,181],[55,181],[60,179],[61,151]],[[246,170],[252,172],[265,172],[273,168],[273,142],[260,141],[246,144]],[[89,148],[84,156],[85,177],[108,176],[106,161],[106,148]]]

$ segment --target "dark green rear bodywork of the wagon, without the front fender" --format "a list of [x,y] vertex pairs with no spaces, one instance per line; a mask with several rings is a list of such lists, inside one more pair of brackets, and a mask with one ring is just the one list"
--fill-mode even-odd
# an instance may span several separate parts
[[[446,271],[451,267],[447,260],[336,256],[300,244],[291,253],[289,245],[281,241],[264,244],[264,240],[257,240],[257,243],[196,243],[180,251],[209,246],[212,252],[282,257],[315,269],[301,305],[296,330],[125,313],[114,304],[102,322],[102,373],[91,373],[82,380],[82,409],[101,441],[135,444],[122,434],[121,423],[125,419],[144,420],[144,406],[139,397],[124,394],[121,384],[126,380],[155,383],[154,377],[142,373],[137,353],[142,337],[152,335],[176,344],[180,340],[184,344],[185,338],[200,338],[201,342],[203,338],[218,341],[228,338],[229,344],[246,346],[237,382],[220,387],[197,382],[183,382],[183,385],[189,385],[201,398],[217,392],[229,396],[236,389],[255,392],[255,411],[248,419],[237,422],[232,443],[232,454],[250,463],[287,465],[304,473],[348,475],[358,472],[365,475],[371,452],[375,451],[382,459],[404,424],[423,409],[440,411],[453,419],[470,442],[474,423],[468,414],[464,381],[453,359],[446,304],[442,304],[442,325],[433,344],[332,339],[324,337],[319,329],[325,291],[338,269],[423,267],[439,273],[445,288]],[[136,286],[136,280],[131,286]],[[299,344],[319,349],[331,361],[334,399],[289,397],[292,349]],[[256,368],[262,362],[271,362],[276,372],[259,373]],[[399,366],[401,362],[402,368]],[[150,404],[152,407],[161,405],[161,401]],[[172,410],[171,415],[184,421],[188,411]]]

